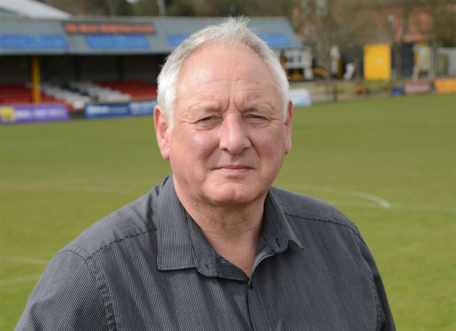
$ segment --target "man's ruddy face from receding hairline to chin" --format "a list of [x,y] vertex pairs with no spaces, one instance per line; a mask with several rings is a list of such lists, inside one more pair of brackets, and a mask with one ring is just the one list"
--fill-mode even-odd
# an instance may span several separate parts
[[192,203],[249,204],[264,198],[290,150],[292,108],[266,63],[244,45],[212,44],[181,70],[169,157],[176,191]]

